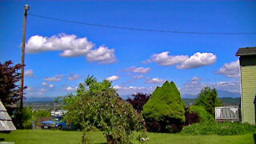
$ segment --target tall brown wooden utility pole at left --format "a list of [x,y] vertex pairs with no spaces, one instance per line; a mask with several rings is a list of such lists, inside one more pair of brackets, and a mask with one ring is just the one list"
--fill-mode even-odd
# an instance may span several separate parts
[[20,110],[23,108],[23,82],[24,82],[24,54],[25,54],[25,37],[26,37],[26,15],[27,10],[30,10],[29,5],[24,6],[23,30],[22,30],[22,70],[21,70],[21,91],[20,91]]

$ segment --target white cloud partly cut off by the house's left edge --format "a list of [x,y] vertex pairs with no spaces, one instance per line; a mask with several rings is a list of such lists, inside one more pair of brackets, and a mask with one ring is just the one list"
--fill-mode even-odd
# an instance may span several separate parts
[[239,78],[239,60],[235,62],[225,63],[216,74],[224,74],[228,78]]

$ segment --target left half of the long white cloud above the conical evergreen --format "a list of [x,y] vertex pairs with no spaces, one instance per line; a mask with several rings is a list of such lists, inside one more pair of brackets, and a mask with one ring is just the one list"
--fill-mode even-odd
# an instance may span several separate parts
[[168,55],[169,52],[162,52],[160,54],[153,54],[151,59],[161,66],[172,66],[174,64],[185,62],[189,56],[187,55]]

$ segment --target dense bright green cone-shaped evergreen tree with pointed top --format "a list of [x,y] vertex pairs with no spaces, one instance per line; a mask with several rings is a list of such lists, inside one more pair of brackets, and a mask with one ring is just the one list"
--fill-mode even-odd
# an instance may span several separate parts
[[184,104],[174,82],[166,81],[162,87],[154,90],[149,101],[143,106],[142,115],[146,121],[157,121],[161,131],[167,131],[166,126],[185,122]]

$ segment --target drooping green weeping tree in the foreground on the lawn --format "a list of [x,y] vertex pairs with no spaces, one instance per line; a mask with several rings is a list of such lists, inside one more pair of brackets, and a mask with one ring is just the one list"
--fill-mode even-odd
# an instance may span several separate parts
[[97,127],[108,140],[130,142],[132,130],[146,130],[141,114],[122,98],[107,80],[97,82],[88,77],[80,83],[77,94],[63,98],[66,103],[67,123],[79,124],[83,129],[82,142],[90,142],[88,131]]

